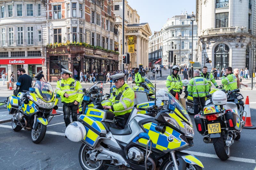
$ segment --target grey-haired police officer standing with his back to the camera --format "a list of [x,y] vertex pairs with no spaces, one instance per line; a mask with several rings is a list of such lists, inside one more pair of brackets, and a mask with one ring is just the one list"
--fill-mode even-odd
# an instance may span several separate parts
[[199,70],[194,71],[194,78],[189,81],[188,94],[193,96],[194,101],[194,113],[198,114],[198,104],[200,102],[201,107],[204,107],[205,96],[209,93],[208,81],[200,76]]

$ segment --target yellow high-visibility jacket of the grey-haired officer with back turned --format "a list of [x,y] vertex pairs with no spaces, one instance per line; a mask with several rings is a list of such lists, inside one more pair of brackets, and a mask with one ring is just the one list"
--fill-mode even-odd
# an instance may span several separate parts
[[[198,94],[197,94],[197,91]],[[209,94],[209,83],[208,81],[201,76],[196,76],[189,81],[188,84],[188,94],[194,97],[205,97]]]

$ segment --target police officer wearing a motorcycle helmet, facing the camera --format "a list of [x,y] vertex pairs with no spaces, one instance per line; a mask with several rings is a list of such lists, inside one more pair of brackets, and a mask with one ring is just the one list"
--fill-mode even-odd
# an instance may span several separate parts
[[168,75],[166,80],[166,87],[174,97],[176,96],[176,93],[182,93],[182,81],[178,74],[179,70],[179,66],[173,66],[172,74]]

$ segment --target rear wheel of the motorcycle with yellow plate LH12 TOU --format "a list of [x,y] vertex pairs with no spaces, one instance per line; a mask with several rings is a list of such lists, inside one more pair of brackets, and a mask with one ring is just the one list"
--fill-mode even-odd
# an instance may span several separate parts
[[217,156],[221,160],[227,160],[230,157],[230,147],[225,145],[222,137],[215,138],[213,141],[213,146]]

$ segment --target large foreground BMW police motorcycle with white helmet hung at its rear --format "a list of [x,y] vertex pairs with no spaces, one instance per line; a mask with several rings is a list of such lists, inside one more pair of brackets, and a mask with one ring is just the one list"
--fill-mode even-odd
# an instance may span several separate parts
[[[73,142],[82,142],[79,163],[83,169],[202,169],[195,156],[182,150],[193,146],[194,130],[190,117],[168,92],[167,109],[156,117],[138,114],[133,108],[124,129],[114,124],[114,113],[100,103],[84,109],[78,121],[68,125],[65,135]],[[90,96],[83,97],[83,104]]]

